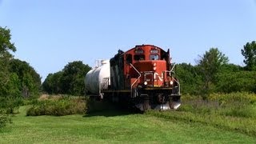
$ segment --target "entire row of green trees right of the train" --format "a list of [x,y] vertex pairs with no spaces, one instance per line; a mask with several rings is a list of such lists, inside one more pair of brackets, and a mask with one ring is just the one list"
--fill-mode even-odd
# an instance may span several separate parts
[[199,55],[196,65],[181,63],[177,76],[183,94],[196,94],[206,98],[210,93],[254,92],[256,93],[256,43],[247,42],[242,55],[246,66],[229,62],[218,48],[210,48]]

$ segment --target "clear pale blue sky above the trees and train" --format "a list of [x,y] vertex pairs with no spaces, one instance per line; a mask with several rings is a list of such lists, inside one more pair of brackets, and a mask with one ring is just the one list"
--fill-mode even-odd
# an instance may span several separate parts
[[0,26],[11,30],[14,58],[42,82],[69,62],[94,67],[142,44],[192,65],[217,47],[244,66],[241,49],[256,41],[256,0],[0,0]]

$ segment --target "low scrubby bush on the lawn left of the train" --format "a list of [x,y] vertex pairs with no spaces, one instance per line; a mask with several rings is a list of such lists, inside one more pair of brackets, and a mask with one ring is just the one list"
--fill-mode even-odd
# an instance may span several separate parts
[[27,116],[85,114],[86,102],[81,98],[50,98],[37,100],[27,110]]

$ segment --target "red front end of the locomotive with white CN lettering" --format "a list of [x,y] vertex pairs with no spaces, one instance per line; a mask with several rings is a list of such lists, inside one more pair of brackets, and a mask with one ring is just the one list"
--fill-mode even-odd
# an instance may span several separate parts
[[136,106],[141,110],[180,106],[180,86],[174,78],[170,52],[157,46],[135,46],[124,54],[125,88],[131,90]]

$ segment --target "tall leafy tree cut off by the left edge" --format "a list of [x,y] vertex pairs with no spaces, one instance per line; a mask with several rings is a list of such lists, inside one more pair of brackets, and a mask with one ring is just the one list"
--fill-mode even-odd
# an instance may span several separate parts
[[14,43],[10,42],[10,30],[0,27],[0,122],[1,126],[7,122],[7,117],[2,114],[13,114],[14,109],[22,103],[20,91],[18,90],[18,76],[10,72],[10,60],[15,52]]

